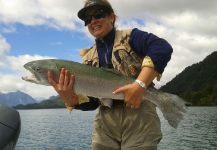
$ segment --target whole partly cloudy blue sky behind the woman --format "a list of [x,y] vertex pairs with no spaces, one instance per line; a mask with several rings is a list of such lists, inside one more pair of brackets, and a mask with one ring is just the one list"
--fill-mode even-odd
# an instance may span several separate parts
[[[166,39],[174,52],[160,82],[217,51],[216,0],[109,0],[117,29],[138,28]],[[81,62],[94,39],[77,12],[84,0],[0,0],[0,92],[22,91],[36,99],[57,95],[52,87],[21,79],[37,59]],[[216,65],[216,64],[215,64]]]

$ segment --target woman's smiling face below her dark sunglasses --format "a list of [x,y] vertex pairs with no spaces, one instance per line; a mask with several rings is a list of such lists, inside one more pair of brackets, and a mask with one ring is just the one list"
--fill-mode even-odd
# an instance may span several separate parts
[[114,19],[115,15],[113,13],[99,19],[92,17],[90,23],[87,24],[90,34],[95,38],[103,38],[113,29]]

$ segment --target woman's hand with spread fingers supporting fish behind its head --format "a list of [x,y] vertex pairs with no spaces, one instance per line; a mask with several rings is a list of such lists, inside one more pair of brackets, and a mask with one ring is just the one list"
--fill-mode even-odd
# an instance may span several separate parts
[[54,80],[53,73],[49,70],[48,82],[54,87],[67,106],[74,107],[78,104],[78,96],[74,92],[75,76],[71,75],[68,70],[61,69],[58,81]]

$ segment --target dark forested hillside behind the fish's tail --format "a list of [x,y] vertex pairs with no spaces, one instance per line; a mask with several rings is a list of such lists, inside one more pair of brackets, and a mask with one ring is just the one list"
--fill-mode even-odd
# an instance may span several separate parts
[[193,105],[217,105],[217,51],[203,61],[185,68],[162,86],[165,92],[178,94]]

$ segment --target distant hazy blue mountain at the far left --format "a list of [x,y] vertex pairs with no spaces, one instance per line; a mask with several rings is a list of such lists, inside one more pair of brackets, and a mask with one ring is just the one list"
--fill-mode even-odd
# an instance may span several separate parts
[[30,104],[36,103],[37,101],[33,99],[28,94],[25,94],[21,91],[10,92],[10,93],[0,93],[0,105],[13,107],[18,104]]

